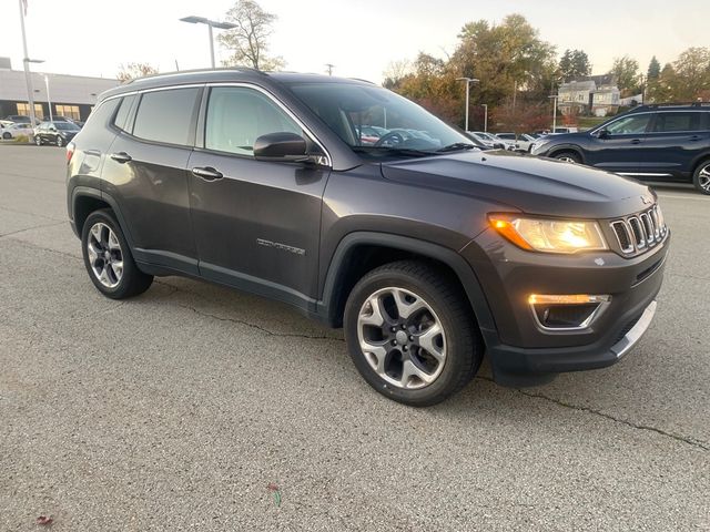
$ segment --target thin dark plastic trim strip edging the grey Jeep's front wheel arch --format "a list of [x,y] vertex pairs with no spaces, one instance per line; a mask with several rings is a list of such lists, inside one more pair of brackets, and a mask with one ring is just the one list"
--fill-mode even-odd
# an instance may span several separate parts
[[458,280],[462,283],[478,320],[478,326],[481,329],[485,341],[497,340],[498,334],[496,325],[483,288],[475,272],[464,257],[455,250],[437,244],[388,233],[356,232],[349,233],[341,241],[328,266],[322,290],[323,297],[316,303],[315,315],[321,319],[331,325],[337,323],[336,311],[338,308],[338,298],[342,296],[338,287],[342,285],[345,276],[345,265],[352,252],[361,245],[375,245],[400,249],[446,264],[454,270]]

